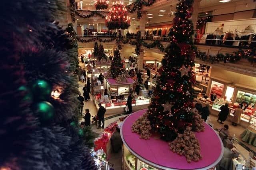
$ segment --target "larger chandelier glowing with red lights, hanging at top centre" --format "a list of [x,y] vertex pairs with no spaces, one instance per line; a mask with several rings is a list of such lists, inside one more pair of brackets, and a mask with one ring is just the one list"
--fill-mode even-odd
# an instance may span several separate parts
[[106,27],[108,29],[127,29],[130,27],[130,17],[127,16],[128,12],[123,2],[113,2],[106,16]]

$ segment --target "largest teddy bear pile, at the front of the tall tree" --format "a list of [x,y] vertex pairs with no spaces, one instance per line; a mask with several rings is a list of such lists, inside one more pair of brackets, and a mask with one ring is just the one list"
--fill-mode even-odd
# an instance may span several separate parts
[[178,133],[178,137],[169,143],[170,150],[178,155],[184,155],[188,163],[202,159],[199,141],[191,129],[189,126],[186,127],[183,134]]

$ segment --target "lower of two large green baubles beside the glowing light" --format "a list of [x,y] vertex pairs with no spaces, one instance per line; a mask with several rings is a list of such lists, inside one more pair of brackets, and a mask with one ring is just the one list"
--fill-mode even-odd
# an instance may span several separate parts
[[34,108],[40,121],[49,121],[53,119],[55,111],[54,107],[49,102],[39,102]]

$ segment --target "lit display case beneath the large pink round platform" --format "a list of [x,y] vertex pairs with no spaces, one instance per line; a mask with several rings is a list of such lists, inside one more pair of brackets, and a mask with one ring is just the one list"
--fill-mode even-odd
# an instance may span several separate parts
[[142,162],[139,158],[134,156],[124,145],[123,146],[123,170],[158,170],[153,166]]

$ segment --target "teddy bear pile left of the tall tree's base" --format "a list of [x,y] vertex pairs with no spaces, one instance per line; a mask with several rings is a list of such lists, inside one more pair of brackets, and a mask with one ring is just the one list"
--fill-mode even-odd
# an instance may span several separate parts
[[150,139],[151,133],[150,121],[148,120],[148,113],[144,113],[132,124],[132,132],[140,134],[142,139]]

